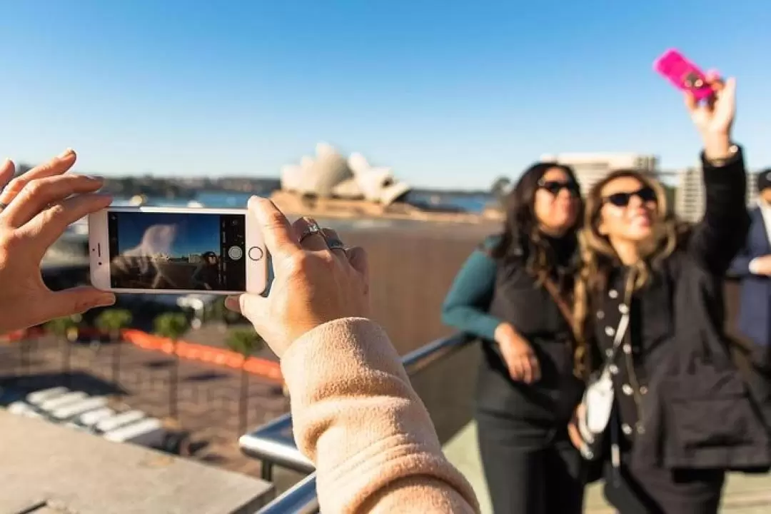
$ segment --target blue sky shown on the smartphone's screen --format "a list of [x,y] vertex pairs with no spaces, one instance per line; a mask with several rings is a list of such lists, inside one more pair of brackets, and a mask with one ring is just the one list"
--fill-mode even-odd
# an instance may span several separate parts
[[215,252],[220,254],[220,217],[214,214],[118,213],[118,251],[124,252],[142,242],[147,227],[175,225],[170,257]]

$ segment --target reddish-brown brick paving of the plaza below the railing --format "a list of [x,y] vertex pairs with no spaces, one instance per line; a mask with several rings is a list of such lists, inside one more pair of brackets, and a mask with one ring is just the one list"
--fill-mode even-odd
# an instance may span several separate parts
[[[48,336],[25,344],[29,348],[27,358],[20,351],[22,344],[0,344],[0,385],[22,385],[31,390],[66,385],[92,395],[110,395],[116,406],[140,409],[166,419],[172,427],[191,432],[194,446],[200,447],[192,459],[259,476],[260,463],[242,455],[237,445],[241,435],[240,371],[180,360],[178,416],[172,420],[168,418],[172,359],[167,354],[132,344],[102,344],[96,348],[88,343],[70,344],[72,372],[68,384],[62,374],[64,344]],[[113,384],[116,346],[120,347],[119,387]],[[289,408],[281,384],[255,375],[249,376],[247,405],[249,428],[284,414]],[[276,478],[286,485],[298,479],[291,474]]]

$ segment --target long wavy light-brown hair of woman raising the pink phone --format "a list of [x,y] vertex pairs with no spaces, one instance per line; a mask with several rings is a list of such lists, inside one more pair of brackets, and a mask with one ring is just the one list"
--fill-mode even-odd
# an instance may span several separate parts
[[584,210],[584,226],[578,233],[581,265],[574,286],[573,321],[576,348],[574,363],[576,375],[586,377],[592,370],[589,345],[592,337],[589,313],[598,308],[598,299],[608,286],[608,277],[621,266],[618,255],[608,237],[599,230],[602,190],[611,181],[631,177],[656,193],[657,209],[652,220],[651,237],[641,242],[641,259],[630,267],[626,277],[625,302],[628,304],[635,291],[645,287],[651,270],[662,263],[689,233],[689,225],[679,222],[667,205],[664,187],[658,180],[637,170],[618,170],[609,173],[589,191]]

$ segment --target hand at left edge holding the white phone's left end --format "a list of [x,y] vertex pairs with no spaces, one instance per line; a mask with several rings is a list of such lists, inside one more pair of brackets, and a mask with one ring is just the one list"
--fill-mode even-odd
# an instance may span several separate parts
[[0,164],[0,202],[7,206],[0,210],[0,333],[115,303],[112,293],[93,287],[53,292],[40,273],[45,252],[69,224],[111,200],[94,194],[102,180],[64,174],[75,160],[68,150],[13,180],[13,163]]

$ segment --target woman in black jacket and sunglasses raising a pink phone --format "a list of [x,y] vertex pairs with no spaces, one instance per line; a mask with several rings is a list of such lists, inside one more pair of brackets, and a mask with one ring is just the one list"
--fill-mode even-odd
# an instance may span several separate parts
[[[604,460],[605,495],[623,514],[717,512],[726,470],[769,465],[767,428],[722,329],[723,275],[749,217],[742,151],[731,139],[736,84],[710,83],[712,101],[687,98],[705,145],[700,223],[678,223],[662,186],[634,170],[611,173],[587,198],[577,364],[607,371],[612,384],[607,428],[594,432],[604,448],[588,457]],[[588,398],[571,426],[584,448],[585,410],[598,406]]]

